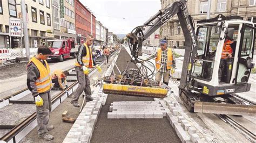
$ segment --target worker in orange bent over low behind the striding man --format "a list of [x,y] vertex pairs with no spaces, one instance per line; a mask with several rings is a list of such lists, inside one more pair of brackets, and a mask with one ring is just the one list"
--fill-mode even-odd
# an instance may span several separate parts
[[[66,83],[66,76],[69,75],[69,71],[62,69],[56,69],[51,74],[52,83],[55,83],[53,85],[53,88],[61,88],[64,90],[65,88],[68,88],[68,84]],[[65,87],[62,85],[64,82]]]

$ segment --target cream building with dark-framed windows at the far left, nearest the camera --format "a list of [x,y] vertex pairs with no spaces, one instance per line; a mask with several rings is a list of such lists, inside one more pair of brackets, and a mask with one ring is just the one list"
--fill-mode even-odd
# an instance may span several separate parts
[[[0,1],[0,47],[19,47],[20,38],[9,36],[9,18],[21,18],[20,0]],[[25,1],[29,33],[29,47],[54,38],[52,32],[52,4],[50,0]],[[23,42],[24,44],[24,42]]]

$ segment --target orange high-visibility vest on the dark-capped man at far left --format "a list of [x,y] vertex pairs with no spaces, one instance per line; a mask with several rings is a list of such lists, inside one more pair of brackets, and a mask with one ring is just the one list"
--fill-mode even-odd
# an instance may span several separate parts
[[35,58],[33,56],[31,60],[29,61],[33,62],[37,69],[39,70],[40,77],[37,78],[36,80],[36,87],[37,87],[37,92],[38,93],[43,93],[46,91],[51,90],[51,75],[50,75],[50,68],[46,60],[44,60],[46,67],[43,65],[41,61]]

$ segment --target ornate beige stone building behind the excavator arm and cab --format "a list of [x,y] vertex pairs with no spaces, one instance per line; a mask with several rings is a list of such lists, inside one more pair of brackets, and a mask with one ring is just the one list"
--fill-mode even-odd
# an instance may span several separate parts
[[[160,0],[161,9],[175,2],[175,0]],[[194,23],[198,20],[206,19],[208,11],[208,1],[187,0],[187,9],[192,16]],[[224,16],[241,16],[244,20],[253,20],[256,23],[256,0],[212,0],[211,15],[214,18],[219,14]],[[184,47],[184,36],[177,16],[174,16],[160,27],[161,38],[166,38],[170,47]]]

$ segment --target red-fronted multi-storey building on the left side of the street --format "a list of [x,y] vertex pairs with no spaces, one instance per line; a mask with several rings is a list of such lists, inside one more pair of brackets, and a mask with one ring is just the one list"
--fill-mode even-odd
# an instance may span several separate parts
[[76,0],[76,31],[77,43],[83,44],[88,34],[91,34],[91,11],[88,10],[79,0]]

